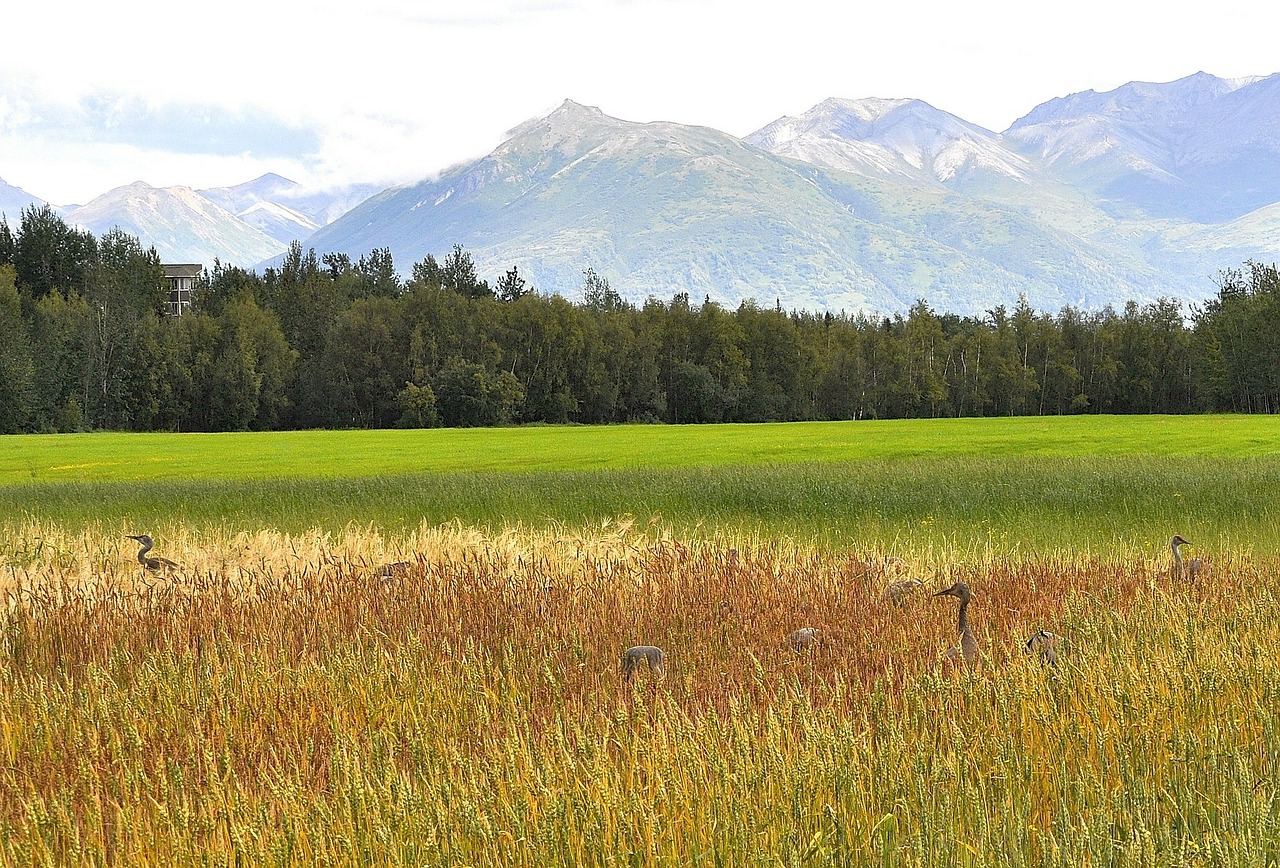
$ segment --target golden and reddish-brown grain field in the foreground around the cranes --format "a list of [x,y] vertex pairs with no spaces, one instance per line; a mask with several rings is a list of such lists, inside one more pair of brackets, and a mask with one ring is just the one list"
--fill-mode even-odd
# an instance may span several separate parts
[[[8,864],[1280,859],[1268,559],[1192,584],[1158,540],[888,556],[616,521],[175,529],[152,575],[124,533],[13,535]],[[956,580],[972,670],[942,664]],[[1037,629],[1056,666],[1021,653]],[[664,679],[621,679],[636,644]]]

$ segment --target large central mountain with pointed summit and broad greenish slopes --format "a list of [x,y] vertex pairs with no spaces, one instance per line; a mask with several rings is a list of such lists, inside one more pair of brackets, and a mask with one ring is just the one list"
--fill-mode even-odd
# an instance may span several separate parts
[[[628,123],[567,101],[488,156],[388,189],[306,243],[352,256],[389,246],[403,273],[461,243],[481,274],[518,265],[544,292],[576,297],[591,266],[636,301],[689,292],[735,306],[754,297],[892,311],[923,297],[979,312],[1019,293],[1056,309],[1151,298],[1167,287],[1167,275],[1133,251],[942,183],[970,172],[1021,173],[1027,161],[959,119],[915,136],[906,122],[941,114],[924,104],[879,117],[902,108],[904,123],[879,151],[859,161],[865,154],[854,149],[833,169],[714,129]],[[856,119],[856,110],[846,114]],[[952,125],[959,146],[942,141]]]

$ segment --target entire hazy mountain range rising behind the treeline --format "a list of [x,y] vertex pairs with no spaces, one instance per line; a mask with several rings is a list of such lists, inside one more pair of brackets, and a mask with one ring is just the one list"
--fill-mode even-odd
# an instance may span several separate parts
[[[0,210],[14,189],[0,183]],[[374,192],[278,175],[132,184],[68,219],[206,264],[270,261],[297,238],[353,257],[389,247],[407,273],[458,243],[483,277],[516,265],[568,297],[593,268],[635,301],[891,312],[924,298],[960,314],[1020,294],[1041,310],[1199,301],[1219,270],[1280,253],[1280,74],[1087,91],[1004,133],[920,100],[832,99],[745,138],[566,101],[479,160]]]

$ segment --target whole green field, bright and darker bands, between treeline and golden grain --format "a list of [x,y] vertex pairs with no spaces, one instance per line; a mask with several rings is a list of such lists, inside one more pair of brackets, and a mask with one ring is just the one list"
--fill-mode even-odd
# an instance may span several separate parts
[[385,530],[424,520],[823,544],[1107,549],[1172,533],[1277,552],[1280,426],[1251,416],[0,440],[6,522],[110,531]]

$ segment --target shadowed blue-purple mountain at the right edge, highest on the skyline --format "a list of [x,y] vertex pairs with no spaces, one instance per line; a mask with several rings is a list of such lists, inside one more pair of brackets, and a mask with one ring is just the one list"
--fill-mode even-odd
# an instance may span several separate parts
[[1280,74],[1074,93],[1004,138],[1115,214],[1230,220],[1280,201]]

